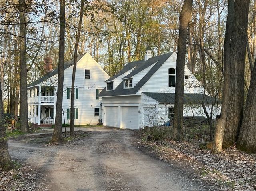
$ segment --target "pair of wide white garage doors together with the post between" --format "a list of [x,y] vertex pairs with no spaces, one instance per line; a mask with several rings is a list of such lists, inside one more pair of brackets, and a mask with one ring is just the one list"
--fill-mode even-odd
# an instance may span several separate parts
[[139,129],[138,106],[105,106],[105,124],[111,127]]

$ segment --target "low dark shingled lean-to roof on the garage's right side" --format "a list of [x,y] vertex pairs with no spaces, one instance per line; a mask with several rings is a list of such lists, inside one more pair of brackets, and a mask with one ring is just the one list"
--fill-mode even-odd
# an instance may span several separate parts
[[[142,92],[143,94],[147,95],[158,101],[159,103],[169,103],[174,104],[175,101],[175,93],[155,93],[155,92]],[[205,96],[205,97],[204,97]],[[203,99],[204,98],[204,99]],[[206,100],[208,103],[214,103],[214,97],[204,95],[204,94],[184,94],[183,101],[184,103],[191,103],[191,104],[201,104],[203,100]]]

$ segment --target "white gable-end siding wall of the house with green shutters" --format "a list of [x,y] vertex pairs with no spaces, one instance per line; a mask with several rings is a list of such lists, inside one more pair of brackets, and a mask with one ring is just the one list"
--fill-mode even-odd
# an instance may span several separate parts
[[[90,79],[85,79],[84,70],[90,70]],[[70,108],[70,99],[67,99],[66,88],[71,88],[73,66],[64,70],[64,92],[63,109],[64,112]],[[76,66],[75,88],[78,88],[78,99],[74,99],[74,107],[78,108],[78,119],[75,119],[75,125],[97,124],[101,117],[101,100],[96,99],[96,89],[105,87],[105,80],[109,78],[108,74],[101,66],[90,56],[85,54]],[[94,116],[94,108],[99,108],[100,116]],[[66,118],[65,113],[65,118]],[[64,122],[64,119],[62,119]],[[70,123],[70,120],[68,120]]]

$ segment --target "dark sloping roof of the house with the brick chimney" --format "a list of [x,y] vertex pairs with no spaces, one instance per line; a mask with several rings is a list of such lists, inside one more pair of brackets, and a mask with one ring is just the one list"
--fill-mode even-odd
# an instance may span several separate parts
[[[77,57],[77,62],[85,55],[81,54],[80,56]],[[72,66],[74,64],[74,58],[67,60],[66,62],[64,62],[64,70],[69,68],[70,66]],[[55,68],[54,70],[52,70],[52,72],[48,72],[47,74],[45,74],[44,76],[42,76],[41,78],[39,78],[38,80],[32,82],[31,84],[28,84],[27,87],[31,87],[31,86],[36,86],[37,84],[40,84],[41,82],[44,82],[45,80],[47,80],[48,78],[51,78],[52,76],[58,74],[58,67]]]

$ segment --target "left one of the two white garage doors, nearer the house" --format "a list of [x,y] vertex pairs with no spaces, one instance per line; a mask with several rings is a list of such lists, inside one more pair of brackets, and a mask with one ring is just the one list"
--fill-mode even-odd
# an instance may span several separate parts
[[106,107],[106,125],[118,127],[118,107]]

